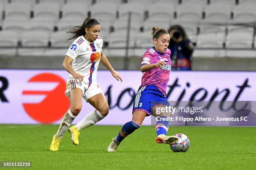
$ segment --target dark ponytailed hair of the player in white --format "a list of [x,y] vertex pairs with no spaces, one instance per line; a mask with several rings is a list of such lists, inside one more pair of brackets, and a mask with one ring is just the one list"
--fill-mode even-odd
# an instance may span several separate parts
[[67,31],[67,33],[70,34],[67,40],[73,40],[81,35],[84,35],[85,28],[89,29],[94,25],[100,25],[99,21],[97,21],[95,18],[86,18],[82,25],[74,26],[71,30]]

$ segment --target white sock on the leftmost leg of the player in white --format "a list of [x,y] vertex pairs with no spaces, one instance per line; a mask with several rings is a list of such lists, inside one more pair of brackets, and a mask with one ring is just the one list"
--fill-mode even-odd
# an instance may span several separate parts
[[74,116],[70,110],[68,110],[65,113],[65,115],[62,119],[62,122],[59,126],[59,130],[55,135],[57,138],[62,138],[64,133],[68,130],[69,126],[72,124],[74,118],[76,118],[76,116]]

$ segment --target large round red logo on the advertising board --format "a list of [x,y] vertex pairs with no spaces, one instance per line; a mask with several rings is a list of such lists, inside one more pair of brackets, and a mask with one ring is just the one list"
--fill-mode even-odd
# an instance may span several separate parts
[[66,82],[58,75],[42,73],[32,77],[28,82],[57,82],[51,91],[24,90],[23,95],[46,95],[40,103],[23,103],[30,117],[41,123],[52,123],[59,120],[69,109],[69,99],[64,95]]

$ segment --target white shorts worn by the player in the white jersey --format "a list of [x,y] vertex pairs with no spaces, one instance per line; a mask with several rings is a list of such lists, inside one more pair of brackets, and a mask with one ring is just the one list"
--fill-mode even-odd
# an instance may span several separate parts
[[82,90],[82,95],[84,100],[87,102],[87,100],[92,97],[95,96],[99,93],[103,93],[103,91],[100,88],[100,84],[98,84],[97,82],[92,82],[92,84],[90,85],[90,87],[87,89],[88,85],[85,84],[82,81],[81,83],[77,83],[74,79],[69,78],[67,80],[67,84],[66,84],[66,91],[65,91],[65,95],[67,97],[69,97],[69,91],[74,89],[74,88],[79,88]]

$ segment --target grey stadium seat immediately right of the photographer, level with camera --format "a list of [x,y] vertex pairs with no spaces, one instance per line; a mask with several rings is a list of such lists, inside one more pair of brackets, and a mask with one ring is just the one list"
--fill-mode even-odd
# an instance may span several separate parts
[[223,48],[225,33],[200,34],[197,37],[197,47],[201,48]]

